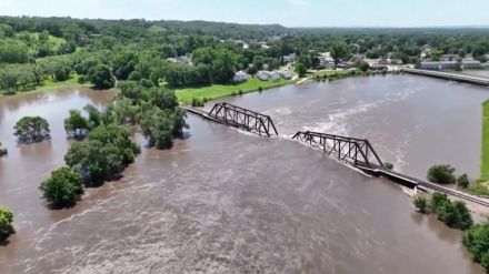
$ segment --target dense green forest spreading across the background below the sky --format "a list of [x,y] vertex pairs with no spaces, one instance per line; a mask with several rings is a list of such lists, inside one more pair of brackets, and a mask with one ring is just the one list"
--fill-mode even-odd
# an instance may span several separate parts
[[[228,83],[239,70],[278,69],[290,53],[305,72],[318,65],[318,53],[338,50],[336,64],[355,54],[417,63],[423,47],[430,47],[432,60],[456,53],[486,62],[489,52],[487,29],[290,29],[203,21],[1,17],[0,39],[3,93],[73,78],[97,89],[126,80],[168,88]],[[179,57],[188,60],[168,60]]]

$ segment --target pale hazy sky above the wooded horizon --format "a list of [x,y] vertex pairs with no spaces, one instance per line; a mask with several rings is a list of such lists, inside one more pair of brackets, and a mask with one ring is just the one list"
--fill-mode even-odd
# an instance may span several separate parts
[[0,14],[286,27],[487,27],[489,0],[0,0]]

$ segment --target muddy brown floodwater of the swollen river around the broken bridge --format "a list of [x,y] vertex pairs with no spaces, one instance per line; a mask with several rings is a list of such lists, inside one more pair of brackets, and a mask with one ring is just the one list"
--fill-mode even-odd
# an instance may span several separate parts
[[[387,75],[227,101],[271,115],[285,136],[367,138],[407,173],[425,176],[449,163],[477,176],[488,92]],[[173,149],[143,149],[120,181],[89,189],[73,209],[46,209],[38,185],[63,163],[68,110],[112,97],[62,90],[0,100],[0,141],[9,150],[0,159],[0,204],[14,212],[17,230],[0,246],[0,273],[482,273],[461,233],[416,213],[398,185],[285,138],[193,115]],[[48,119],[52,138],[18,146],[13,124],[30,114]]]

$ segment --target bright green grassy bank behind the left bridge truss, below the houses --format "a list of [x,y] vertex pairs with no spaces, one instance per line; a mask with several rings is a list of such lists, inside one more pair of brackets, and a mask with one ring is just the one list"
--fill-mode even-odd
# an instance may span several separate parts
[[192,99],[203,100],[203,98],[207,98],[208,100],[214,100],[238,94],[239,91],[242,93],[248,93],[259,90],[260,87],[265,90],[292,82],[293,81],[291,80],[285,79],[280,79],[278,81],[260,81],[257,78],[250,78],[248,81],[239,84],[212,84],[199,88],[177,89],[176,93],[180,102],[190,104]]

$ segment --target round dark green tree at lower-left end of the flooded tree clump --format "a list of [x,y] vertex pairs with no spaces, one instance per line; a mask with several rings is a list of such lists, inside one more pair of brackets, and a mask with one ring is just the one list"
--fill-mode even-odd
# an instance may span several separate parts
[[83,193],[80,174],[66,166],[51,172],[51,176],[39,190],[42,191],[42,197],[53,206],[72,205]]

